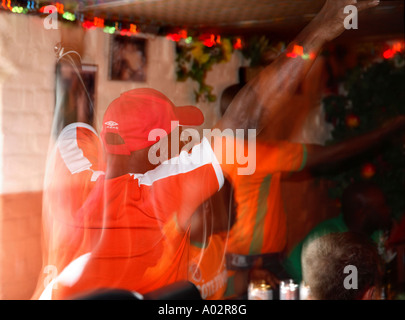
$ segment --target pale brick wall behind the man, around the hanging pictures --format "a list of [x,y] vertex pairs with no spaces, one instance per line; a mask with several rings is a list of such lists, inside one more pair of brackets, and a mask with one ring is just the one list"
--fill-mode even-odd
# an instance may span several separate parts
[[[0,13],[0,193],[42,190],[46,151],[54,108],[54,46],[61,41],[66,25],[47,30],[39,17]],[[65,28],[65,29],[64,29]],[[65,32],[62,32],[65,31]],[[68,30],[69,31],[69,30]],[[72,32],[72,35],[76,33]],[[110,35],[88,30],[84,36],[83,63],[98,65],[96,117],[98,125],[108,104],[135,87],[153,87],[175,104],[195,104],[192,81],[175,79],[174,43],[164,37],[148,41],[146,83],[108,81]],[[214,66],[207,80],[220,96],[222,90],[238,81],[243,63],[234,53],[228,63]],[[206,122],[218,119],[218,101],[199,103]]]

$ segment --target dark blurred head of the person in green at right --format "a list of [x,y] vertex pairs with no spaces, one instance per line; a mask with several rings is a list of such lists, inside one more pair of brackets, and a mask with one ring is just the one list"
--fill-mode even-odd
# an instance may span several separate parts
[[355,182],[342,196],[344,220],[351,231],[371,235],[391,226],[391,211],[382,190],[371,182]]

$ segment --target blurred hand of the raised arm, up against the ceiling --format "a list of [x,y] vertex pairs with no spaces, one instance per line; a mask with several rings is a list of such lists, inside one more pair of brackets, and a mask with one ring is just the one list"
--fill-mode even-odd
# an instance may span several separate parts
[[346,6],[353,5],[360,12],[379,3],[379,0],[327,0],[311,23],[319,30],[319,35],[324,40],[331,41],[345,30],[344,21],[348,15],[343,10]]

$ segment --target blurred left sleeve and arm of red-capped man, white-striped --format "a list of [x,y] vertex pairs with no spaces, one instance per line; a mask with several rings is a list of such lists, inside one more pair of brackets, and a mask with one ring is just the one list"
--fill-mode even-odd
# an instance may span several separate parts
[[[43,192],[43,268],[33,295],[72,260],[87,237],[78,211],[100,176],[104,175],[101,140],[86,123],[67,125],[50,148]],[[92,245],[88,243],[88,252]]]

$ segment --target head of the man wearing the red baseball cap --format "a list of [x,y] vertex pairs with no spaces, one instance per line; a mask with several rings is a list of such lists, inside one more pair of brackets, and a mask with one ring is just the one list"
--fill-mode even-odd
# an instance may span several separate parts
[[[180,151],[181,126],[199,126],[203,122],[197,107],[176,107],[157,90],[139,88],[122,93],[111,102],[103,118],[101,139],[107,171],[120,167],[120,174],[145,173],[155,168]],[[179,147],[171,152],[174,139]],[[151,153],[157,145],[159,148]]]

